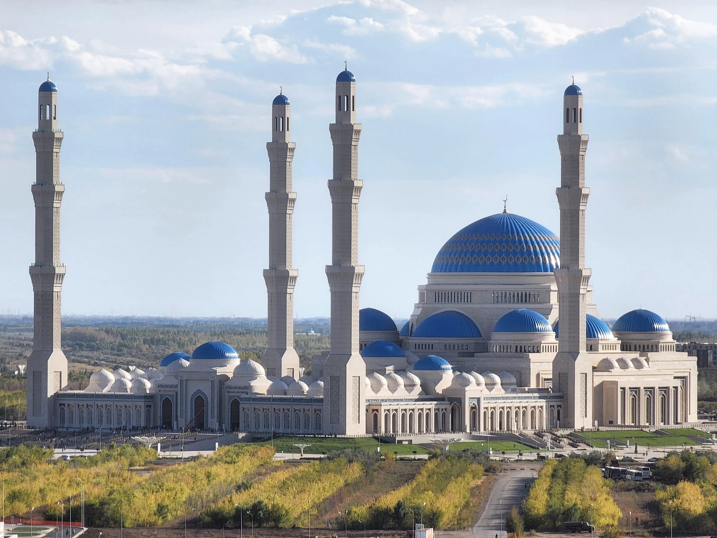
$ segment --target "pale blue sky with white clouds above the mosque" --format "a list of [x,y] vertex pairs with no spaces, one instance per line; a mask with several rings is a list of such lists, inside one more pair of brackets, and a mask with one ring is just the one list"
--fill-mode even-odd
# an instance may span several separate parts
[[458,230],[559,232],[562,93],[589,134],[603,317],[717,317],[717,4],[0,4],[0,312],[32,312],[37,88],[59,88],[63,313],[266,316],[271,102],[291,101],[295,315],[326,316],[333,88],[356,75],[361,307],[410,315]]

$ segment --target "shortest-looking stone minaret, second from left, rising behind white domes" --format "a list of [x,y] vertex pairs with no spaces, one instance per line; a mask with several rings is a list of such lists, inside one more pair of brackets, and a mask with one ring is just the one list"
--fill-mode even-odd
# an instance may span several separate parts
[[289,138],[290,105],[280,93],[272,103],[272,136],[269,154],[269,268],[267,284],[267,350],[262,364],[268,376],[299,378],[299,356],[294,349],[294,286],[298,270],[292,269],[292,230],[296,193],[291,191],[291,165],[296,144]]

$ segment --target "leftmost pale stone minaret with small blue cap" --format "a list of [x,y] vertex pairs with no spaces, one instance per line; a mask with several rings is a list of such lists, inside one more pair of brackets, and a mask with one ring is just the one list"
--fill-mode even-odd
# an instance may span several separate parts
[[35,143],[35,263],[30,265],[34,292],[34,343],[27,359],[27,423],[37,428],[57,424],[52,395],[67,385],[67,359],[62,353],[60,296],[65,265],[60,263],[60,183],[62,131],[57,128],[57,86],[39,88]]

